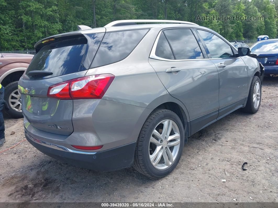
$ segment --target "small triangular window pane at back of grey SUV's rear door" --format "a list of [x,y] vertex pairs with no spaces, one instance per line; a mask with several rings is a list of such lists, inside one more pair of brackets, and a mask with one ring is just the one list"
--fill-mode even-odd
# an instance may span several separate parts
[[163,32],[158,39],[157,47],[155,49],[155,55],[164,59],[175,59]]

